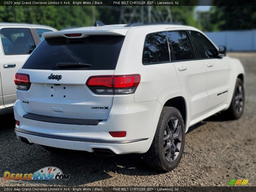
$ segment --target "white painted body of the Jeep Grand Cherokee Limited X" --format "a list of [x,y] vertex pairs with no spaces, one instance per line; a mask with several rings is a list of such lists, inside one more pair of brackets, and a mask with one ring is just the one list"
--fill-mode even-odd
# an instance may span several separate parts
[[[125,36],[125,39],[115,70],[33,70],[21,67],[18,73],[29,74],[31,86],[29,90],[17,90],[17,101],[14,104],[14,116],[20,122],[15,127],[17,138],[25,138],[29,143],[71,150],[93,152],[97,148],[109,149],[115,154],[146,153],[153,141],[163,106],[169,106],[170,101],[184,102],[183,111],[179,110],[186,132],[195,123],[227,109],[236,79],[244,79],[241,63],[237,59],[223,56],[143,65],[145,37],[162,31],[202,33],[194,27],[164,24],[96,26],[45,33],[43,37],[46,39],[78,33],[82,35],[69,38],[120,35]],[[61,75],[62,78],[59,81],[48,79],[50,74]],[[85,84],[93,75],[125,74],[140,74],[141,80],[135,93],[99,95]],[[54,83],[59,83],[60,88],[51,88]],[[56,99],[51,94],[56,94]],[[173,98],[178,99],[171,100]],[[92,109],[93,106],[108,106],[109,110]],[[72,125],[69,119],[70,123],[59,124],[44,122],[43,119],[35,120],[32,116],[24,118],[26,114],[39,115],[36,118],[47,116],[53,119],[103,121],[98,125]],[[112,137],[109,131],[126,131],[126,136]]]

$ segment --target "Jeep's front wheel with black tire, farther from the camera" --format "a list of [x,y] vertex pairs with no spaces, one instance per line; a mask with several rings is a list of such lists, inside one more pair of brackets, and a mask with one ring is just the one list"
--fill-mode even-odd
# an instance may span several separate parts
[[229,109],[225,111],[227,118],[239,119],[243,114],[245,104],[245,92],[243,89],[243,82],[237,79],[235,89],[230,103]]

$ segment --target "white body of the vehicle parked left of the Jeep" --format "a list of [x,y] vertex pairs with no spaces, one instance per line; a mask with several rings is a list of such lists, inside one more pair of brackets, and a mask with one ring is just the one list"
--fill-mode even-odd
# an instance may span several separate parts
[[[43,25],[33,25],[33,24],[22,24],[22,23],[0,23],[0,31],[4,29],[27,29],[28,33],[30,33],[31,39],[33,39],[33,43],[37,46],[41,39],[40,34],[38,34],[38,30],[44,31],[56,31],[52,27],[43,26]],[[13,111],[13,104],[16,101],[16,87],[13,84],[13,77],[15,73],[19,70],[19,68],[23,65],[24,61],[29,57],[28,53],[5,53],[3,42],[3,35],[1,33],[0,38],[0,115],[5,113],[10,113]],[[7,39],[7,38],[5,38]],[[9,41],[9,43],[11,43]],[[14,42],[15,44],[15,42]]]

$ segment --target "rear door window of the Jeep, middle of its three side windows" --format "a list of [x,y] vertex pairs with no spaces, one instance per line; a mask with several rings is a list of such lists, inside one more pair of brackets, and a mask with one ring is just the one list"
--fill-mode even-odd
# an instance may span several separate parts
[[170,31],[167,33],[171,57],[176,61],[195,59],[186,31]]

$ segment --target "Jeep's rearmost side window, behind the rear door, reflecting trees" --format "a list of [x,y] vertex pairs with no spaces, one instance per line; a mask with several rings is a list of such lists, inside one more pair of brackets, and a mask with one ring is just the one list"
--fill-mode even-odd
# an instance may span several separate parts
[[166,61],[170,61],[166,33],[161,32],[147,35],[142,62],[147,64]]

